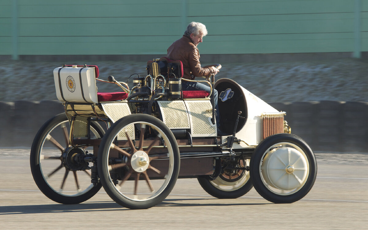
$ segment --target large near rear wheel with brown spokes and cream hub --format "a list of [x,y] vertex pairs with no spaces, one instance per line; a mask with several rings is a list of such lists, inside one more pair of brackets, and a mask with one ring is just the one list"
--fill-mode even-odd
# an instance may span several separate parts
[[98,174],[106,193],[130,209],[159,204],[173,189],[180,169],[179,148],[170,129],[147,114],[114,123],[102,139]]

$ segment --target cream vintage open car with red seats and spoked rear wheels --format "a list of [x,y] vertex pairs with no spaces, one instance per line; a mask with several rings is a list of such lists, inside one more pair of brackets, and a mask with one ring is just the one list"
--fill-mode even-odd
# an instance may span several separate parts
[[[146,70],[130,89],[112,76],[99,79],[97,66],[54,69],[65,113],[40,128],[30,155],[33,178],[48,198],[77,204],[103,186],[118,204],[145,209],[163,201],[177,178],[197,178],[220,199],[254,187],[270,202],[291,203],[311,190],[316,159],[290,134],[285,112],[231,79],[211,76],[201,82],[219,92],[215,111],[208,92],[181,90],[180,61],[155,59]],[[122,92],[98,92],[96,80]],[[216,113],[227,135],[217,135]]]

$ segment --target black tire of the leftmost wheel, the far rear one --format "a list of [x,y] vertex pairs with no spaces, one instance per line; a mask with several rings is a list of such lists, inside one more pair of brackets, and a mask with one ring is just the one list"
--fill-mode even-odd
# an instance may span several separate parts
[[[73,195],[63,194],[61,191],[57,191],[59,190],[59,188],[49,184],[50,181],[49,182],[47,181],[49,177],[42,170],[41,161],[43,159],[42,154],[43,146],[44,144],[46,144],[47,137],[49,136],[49,134],[51,136],[54,135],[52,131],[55,131],[55,135],[59,133],[59,131],[56,130],[56,128],[61,127],[61,124],[65,124],[66,127],[68,128],[70,127],[68,118],[65,113],[60,113],[51,118],[50,120],[48,120],[45,124],[42,125],[40,130],[37,132],[35,138],[33,139],[33,144],[31,147],[31,155],[30,155],[31,172],[36,185],[41,190],[41,192],[46,195],[46,197],[60,204],[79,204],[93,197],[93,195],[95,195],[100,190],[102,185],[98,183],[94,187],[93,184],[91,184],[87,186],[86,189],[83,190],[82,192],[78,191]],[[91,127],[96,131],[97,135],[103,137],[105,131],[97,122],[94,121],[91,122]],[[64,141],[67,140],[65,140],[64,138]],[[45,148],[45,151],[49,151],[49,148]],[[61,167],[61,165],[59,167]],[[63,169],[67,171],[67,169],[64,166],[62,166],[59,170],[64,171]],[[89,180],[91,180],[91,178],[89,178]],[[60,183],[62,182],[63,180],[60,181]]]

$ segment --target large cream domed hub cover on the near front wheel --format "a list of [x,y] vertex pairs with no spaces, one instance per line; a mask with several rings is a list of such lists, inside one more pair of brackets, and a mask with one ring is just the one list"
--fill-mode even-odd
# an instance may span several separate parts
[[272,149],[263,159],[262,176],[270,186],[280,190],[294,190],[305,184],[308,177],[308,160],[297,149]]

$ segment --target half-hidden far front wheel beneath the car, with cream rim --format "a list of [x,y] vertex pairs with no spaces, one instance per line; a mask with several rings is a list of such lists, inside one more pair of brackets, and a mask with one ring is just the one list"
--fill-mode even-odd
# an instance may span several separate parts
[[214,180],[208,177],[198,177],[202,188],[213,197],[219,199],[234,199],[243,196],[253,187],[249,171],[248,159],[238,159],[236,162],[221,160],[221,174]]

